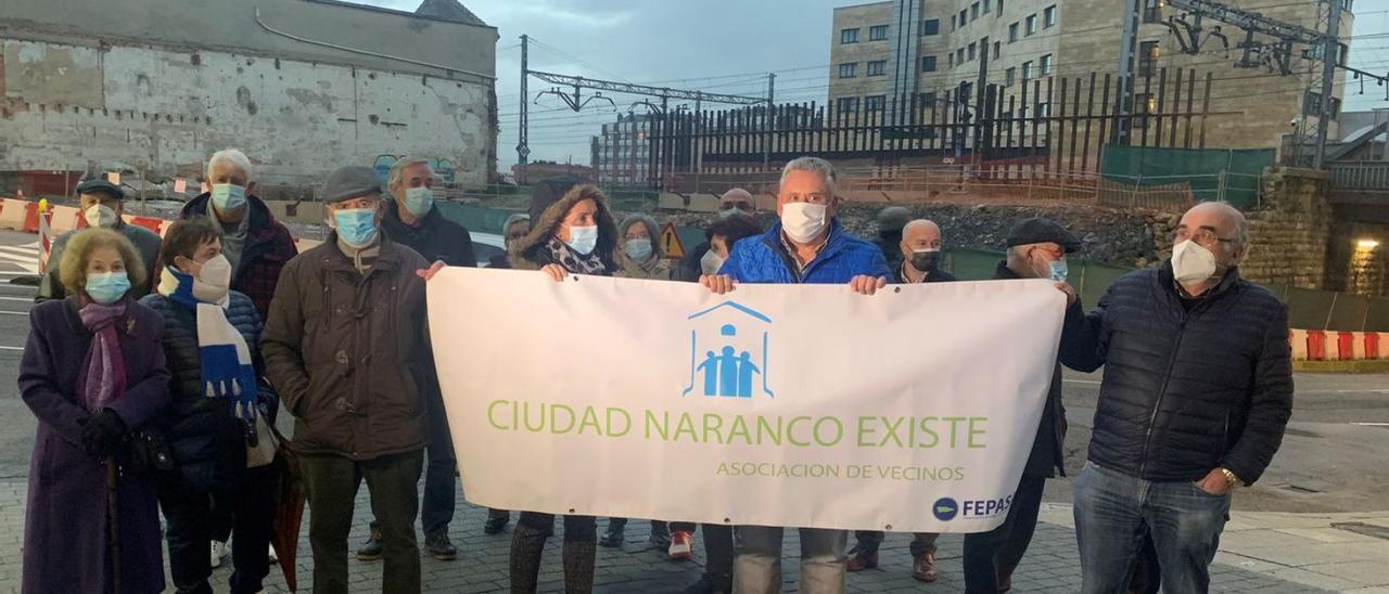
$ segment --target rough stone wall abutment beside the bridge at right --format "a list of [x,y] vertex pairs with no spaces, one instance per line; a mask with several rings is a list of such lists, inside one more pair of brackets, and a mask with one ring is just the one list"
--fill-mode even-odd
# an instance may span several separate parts
[[1326,175],[1311,169],[1264,171],[1260,208],[1246,214],[1253,223],[1245,278],[1301,289],[1326,287],[1326,244],[1331,205]]

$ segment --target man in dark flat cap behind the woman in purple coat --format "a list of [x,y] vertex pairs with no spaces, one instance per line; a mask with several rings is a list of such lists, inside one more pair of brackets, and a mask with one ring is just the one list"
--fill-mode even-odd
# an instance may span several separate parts
[[[125,193],[121,192],[121,186],[106,179],[92,178],[78,183],[76,193],[79,208],[88,226],[106,228],[124,235],[140,253],[144,269],[154,271],[154,261],[160,255],[160,236],[143,226],[129,225],[121,218],[125,214],[121,205],[125,201]],[[72,233],[76,233],[76,230],[63,233],[53,241],[53,251],[49,254],[49,273],[39,279],[39,290],[33,297],[35,301],[67,297],[63,282],[58,280],[58,262],[63,261],[63,250],[68,246],[68,240],[72,239]],[[150,294],[151,279],[158,275],[149,273],[144,276],[144,282],[131,287],[131,298],[138,300]]]

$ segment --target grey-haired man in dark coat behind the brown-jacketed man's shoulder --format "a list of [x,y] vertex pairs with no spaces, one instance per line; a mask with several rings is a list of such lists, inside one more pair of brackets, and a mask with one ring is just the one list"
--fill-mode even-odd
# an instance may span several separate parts
[[[392,241],[403,244],[424,255],[429,262],[444,262],[450,266],[476,266],[472,253],[472,236],[468,229],[449,221],[433,204],[433,168],[426,158],[404,158],[390,168],[386,189],[392,200],[386,201],[386,214],[381,228]],[[419,507],[419,520],[425,530],[425,550],[435,559],[453,561],[458,557],[457,547],[449,541],[449,523],[453,522],[456,498],[454,473],[457,459],[453,452],[453,439],[449,434],[449,419],[444,415],[442,394],[433,386],[425,394],[428,439],[425,448],[429,459],[425,466],[425,493]],[[357,558],[379,559],[381,538],[374,529],[371,538],[357,550]]]

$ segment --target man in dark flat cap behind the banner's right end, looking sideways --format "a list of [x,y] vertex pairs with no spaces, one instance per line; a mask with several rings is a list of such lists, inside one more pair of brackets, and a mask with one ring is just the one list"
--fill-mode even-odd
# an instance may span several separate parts
[[[1071,232],[1045,218],[1018,221],[1008,230],[1007,260],[999,262],[996,280],[1050,279],[1065,282],[1065,254],[1081,248]],[[1067,287],[1068,290],[1070,287]],[[1074,300],[1074,297],[1072,297]],[[1013,494],[1008,518],[996,529],[964,537],[964,583],[967,593],[996,594],[1013,587],[1013,572],[1032,543],[1042,508],[1042,489],[1057,472],[1065,476],[1065,407],[1061,405],[1061,365],[1051,372],[1032,454],[1022,468],[1022,480]]]

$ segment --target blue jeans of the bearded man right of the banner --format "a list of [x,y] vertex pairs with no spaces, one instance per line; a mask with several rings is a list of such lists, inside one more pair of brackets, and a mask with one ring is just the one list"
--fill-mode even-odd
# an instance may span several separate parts
[[1089,464],[1075,477],[1081,591],[1128,591],[1129,568],[1146,527],[1157,550],[1163,588],[1206,593],[1228,519],[1229,493],[1213,495],[1192,482],[1154,483]]

